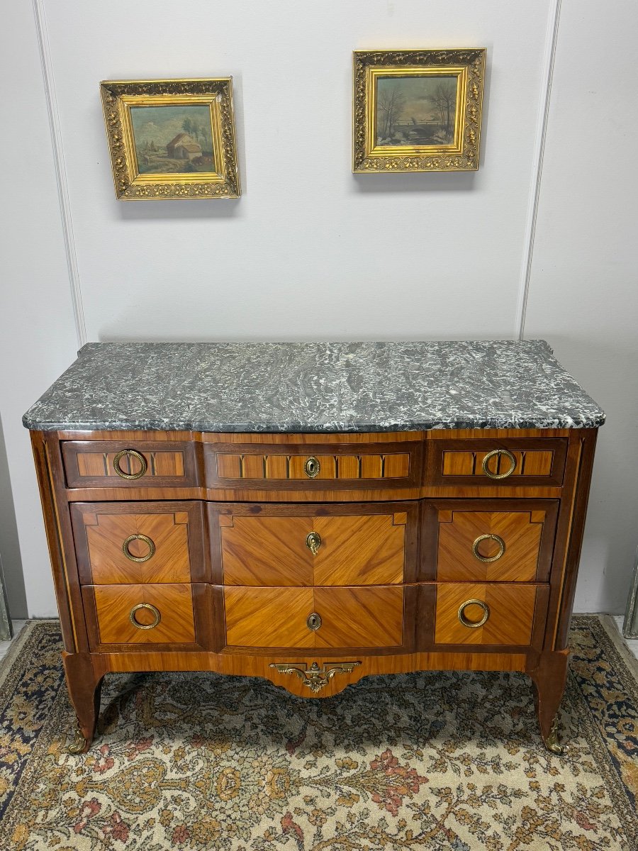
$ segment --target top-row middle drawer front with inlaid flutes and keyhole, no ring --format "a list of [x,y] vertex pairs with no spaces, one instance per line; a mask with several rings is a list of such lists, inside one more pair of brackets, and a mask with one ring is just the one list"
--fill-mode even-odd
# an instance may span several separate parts
[[208,487],[402,488],[419,485],[422,445],[345,443],[323,445],[206,444]]

